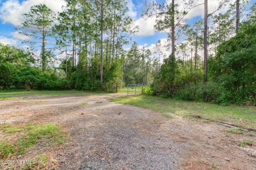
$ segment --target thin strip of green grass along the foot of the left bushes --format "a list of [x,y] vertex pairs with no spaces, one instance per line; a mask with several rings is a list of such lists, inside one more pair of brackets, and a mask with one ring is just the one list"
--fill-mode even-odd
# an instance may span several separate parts
[[[12,90],[0,91],[0,95],[83,95],[100,94],[98,91],[79,91],[79,90]],[[1,99],[1,98],[0,98]]]

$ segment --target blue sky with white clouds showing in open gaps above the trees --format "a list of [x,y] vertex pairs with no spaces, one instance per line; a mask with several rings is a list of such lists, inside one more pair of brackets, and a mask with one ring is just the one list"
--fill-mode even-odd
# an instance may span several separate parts
[[[171,0],[154,0],[154,1],[166,1],[170,3]],[[182,4],[183,0],[175,0],[175,3]],[[210,0],[209,12],[214,11],[220,0]],[[234,0],[231,0],[234,1]],[[250,0],[249,0],[250,1]],[[167,36],[165,33],[157,32],[154,30],[155,18],[149,18],[145,20],[141,17],[142,9],[145,7],[145,0],[127,0],[129,15],[134,20],[134,25],[139,27],[138,32],[132,35],[132,41],[137,41],[140,47],[146,47],[154,51],[158,40],[162,40],[163,46],[167,43]],[[256,0],[251,0],[251,4]],[[29,8],[37,4],[46,4],[55,13],[61,11],[61,6],[65,5],[65,0],[0,0],[0,43],[9,44],[11,46],[25,47],[21,42],[26,40],[27,37],[20,35],[14,27],[19,26],[23,22],[22,14],[27,13]],[[203,3],[203,0],[198,0],[198,4]],[[225,9],[224,9],[225,10]],[[204,14],[204,6],[198,6],[193,8],[186,16],[187,23],[193,23],[202,18]],[[124,46],[128,49],[130,45]],[[166,51],[166,48],[162,48]]]

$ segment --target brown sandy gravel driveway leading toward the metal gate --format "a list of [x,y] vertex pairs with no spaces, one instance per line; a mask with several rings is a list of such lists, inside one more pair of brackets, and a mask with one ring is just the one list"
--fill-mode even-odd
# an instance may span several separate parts
[[[239,147],[243,139],[256,141],[255,136],[227,135],[220,124],[166,118],[108,100],[118,95],[125,94],[0,100],[0,123],[61,125],[70,140],[52,148],[55,169],[256,169],[256,157]],[[248,148],[256,150],[255,144]]]

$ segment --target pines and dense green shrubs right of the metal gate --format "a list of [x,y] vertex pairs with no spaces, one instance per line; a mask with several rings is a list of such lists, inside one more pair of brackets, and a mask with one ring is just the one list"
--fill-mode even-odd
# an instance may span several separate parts
[[[255,3],[240,22],[247,3],[221,1],[212,13],[207,0],[197,5],[191,1],[183,11],[173,0],[171,4],[149,4],[145,15],[157,16],[155,28],[167,32],[172,53],[148,93],[223,105],[255,105]],[[184,16],[198,5],[204,5],[204,18],[186,24]],[[228,10],[218,13],[223,7]],[[185,41],[177,43],[181,36]]]

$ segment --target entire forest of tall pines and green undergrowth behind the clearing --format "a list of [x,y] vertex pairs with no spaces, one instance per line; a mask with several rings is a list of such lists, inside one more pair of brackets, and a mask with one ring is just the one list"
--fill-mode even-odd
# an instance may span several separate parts
[[[157,52],[131,41],[138,28],[126,1],[66,3],[59,13],[39,4],[23,14],[15,29],[29,37],[26,49],[0,44],[1,90],[117,92],[139,83],[145,94],[162,98],[256,105],[256,3],[220,1],[209,13],[207,0],[146,2],[142,17],[156,17],[169,54],[160,41]],[[199,5],[204,17],[187,23]]]

